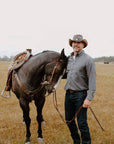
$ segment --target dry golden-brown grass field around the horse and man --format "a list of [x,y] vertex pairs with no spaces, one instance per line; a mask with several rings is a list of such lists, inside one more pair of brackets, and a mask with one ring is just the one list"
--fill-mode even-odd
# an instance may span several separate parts
[[[8,62],[0,62],[0,92],[6,83],[8,65]],[[96,64],[96,70],[97,92],[91,107],[105,131],[101,131],[88,109],[92,144],[114,144],[114,65]],[[64,85],[65,80],[61,80],[57,88],[58,107],[63,116]],[[69,130],[54,108],[52,95],[46,98],[43,115],[46,121],[46,125],[43,126],[45,144],[72,144]],[[30,103],[30,117],[31,144],[37,144],[37,121],[34,102]],[[13,93],[9,99],[0,97],[0,144],[24,144],[24,141],[25,125],[22,124],[22,111],[18,99]]]

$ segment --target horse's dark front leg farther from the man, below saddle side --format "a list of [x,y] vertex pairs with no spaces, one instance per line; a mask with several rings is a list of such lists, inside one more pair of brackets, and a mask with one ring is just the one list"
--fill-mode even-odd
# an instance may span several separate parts
[[26,141],[25,141],[25,144],[28,144],[28,143],[30,143],[30,136],[31,136],[31,133],[30,133],[31,119],[29,117],[29,102],[23,98],[20,98],[19,102],[20,102],[20,106],[23,110],[23,118],[24,118],[25,124],[26,124]]

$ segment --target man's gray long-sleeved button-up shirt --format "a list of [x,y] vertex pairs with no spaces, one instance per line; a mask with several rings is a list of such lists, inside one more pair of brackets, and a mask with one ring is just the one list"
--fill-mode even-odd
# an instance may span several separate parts
[[94,60],[82,50],[75,57],[69,57],[67,72],[65,90],[89,90],[87,99],[92,100],[96,91]]

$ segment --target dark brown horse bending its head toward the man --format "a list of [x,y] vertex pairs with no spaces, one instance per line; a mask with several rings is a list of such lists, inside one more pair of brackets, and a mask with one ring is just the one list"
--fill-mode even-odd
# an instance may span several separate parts
[[[43,120],[42,108],[45,103],[46,91],[51,93],[62,77],[67,65],[64,49],[60,53],[44,51],[31,56],[18,70],[13,72],[12,91],[19,99],[26,124],[26,141],[30,143],[29,103],[34,100],[37,108],[38,141],[43,141],[41,122]],[[46,82],[46,83],[45,83]]]

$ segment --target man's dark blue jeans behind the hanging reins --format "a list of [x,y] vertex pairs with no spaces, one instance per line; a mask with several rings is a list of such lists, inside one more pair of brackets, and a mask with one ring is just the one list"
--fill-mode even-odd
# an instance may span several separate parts
[[[65,96],[65,119],[70,121],[83,104],[84,99],[87,96],[87,91],[79,91],[75,93],[66,92]],[[74,144],[91,144],[91,137],[89,132],[89,127],[87,123],[87,108],[82,108],[77,116],[77,124],[75,120],[73,120],[68,125],[68,128],[71,132],[71,137],[73,139]],[[81,133],[81,138],[78,133],[78,128]]]

